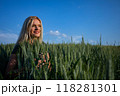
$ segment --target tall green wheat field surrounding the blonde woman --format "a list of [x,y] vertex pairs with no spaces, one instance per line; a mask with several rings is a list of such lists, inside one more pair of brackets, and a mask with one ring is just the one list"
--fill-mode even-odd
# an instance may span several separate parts
[[[4,79],[6,65],[15,44],[0,45],[0,79]],[[62,43],[33,45],[25,42],[17,53],[18,75],[14,79],[33,80],[120,80],[120,46],[100,44]],[[49,53],[50,59],[42,68],[36,68],[40,53]],[[36,60],[35,60],[36,59]],[[51,62],[51,71],[48,62]],[[21,64],[22,62],[22,64]],[[22,70],[21,72],[21,69]],[[14,72],[15,73],[15,72]]]

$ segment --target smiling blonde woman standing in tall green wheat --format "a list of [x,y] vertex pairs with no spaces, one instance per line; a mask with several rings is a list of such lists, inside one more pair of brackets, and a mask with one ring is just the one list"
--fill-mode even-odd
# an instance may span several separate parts
[[[42,26],[41,20],[38,17],[30,16],[24,21],[24,24],[22,26],[21,33],[19,35],[19,38],[17,40],[17,43],[15,44],[13,51],[12,51],[9,63],[7,65],[7,68],[6,68],[6,76],[9,76],[10,75],[9,73],[11,71],[18,69],[18,60],[17,60],[16,53],[20,49],[19,45],[22,42],[26,42],[26,41],[32,45],[35,40],[38,40],[40,44],[43,43],[42,42],[42,40],[43,40],[43,26]],[[49,60],[48,53],[47,53],[47,58]],[[45,56],[44,56],[44,62],[46,62]],[[38,60],[37,67],[40,67],[39,65],[41,63],[42,63],[42,60]],[[44,65],[44,63],[43,63],[43,65]],[[49,62],[48,68],[51,70],[50,62]]]

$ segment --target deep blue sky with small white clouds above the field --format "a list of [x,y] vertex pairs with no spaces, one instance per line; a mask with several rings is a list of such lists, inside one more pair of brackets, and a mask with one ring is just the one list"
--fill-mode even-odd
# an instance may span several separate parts
[[120,45],[120,0],[0,0],[0,43],[15,43],[28,16],[43,23],[43,41]]

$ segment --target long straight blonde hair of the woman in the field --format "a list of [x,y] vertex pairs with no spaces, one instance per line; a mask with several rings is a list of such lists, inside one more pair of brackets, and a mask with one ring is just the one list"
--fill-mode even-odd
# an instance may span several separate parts
[[24,24],[22,26],[22,29],[21,29],[21,32],[20,32],[20,35],[18,37],[18,40],[17,40],[16,44],[24,42],[24,41],[30,41],[30,42],[32,41],[32,37],[30,35],[30,29],[32,27],[34,19],[38,19],[41,23],[41,33],[40,33],[40,37],[38,38],[38,40],[39,40],[40,43],[42,43],[42,40],[43,40],[42,21],[37,16],[30,16],[30,17],[26,18],[26,20],[24,21]]

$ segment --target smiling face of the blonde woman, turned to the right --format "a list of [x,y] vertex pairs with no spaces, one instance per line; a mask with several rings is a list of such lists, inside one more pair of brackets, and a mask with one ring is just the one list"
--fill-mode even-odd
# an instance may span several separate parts
[[30,35],[34,39],[39,38],[41,34],[41,29],[42,29],[41,22],[38,19],[34,19],[31,26]]

